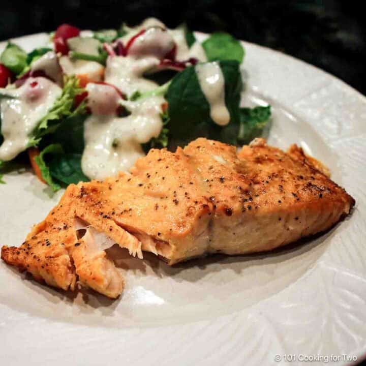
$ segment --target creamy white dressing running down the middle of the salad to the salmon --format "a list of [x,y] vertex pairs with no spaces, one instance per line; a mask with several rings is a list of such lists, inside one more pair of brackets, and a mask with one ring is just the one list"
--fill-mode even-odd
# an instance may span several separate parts
[[[126,45],[140,29],[147,28],[131,45],[127,56],[108,56],[105,82],[115,85],[128,97],[137,90],[145,93],[157,88],[157,83],[143,75],[154,70],[174,46],[171,34],[160,27],[165,28],[159,21],[147,19],[134,29],[133,34],[129,33],[128,38],[122,38]],[[87,85],[88,105],[93,114],[84,125],[85,148],[81,166],[89,178],[103,179],[118,171],[129,170],[138,158],[144,156],[141,144],[158,137],[163,127],[160,116],[165,102],[163,97],[125,101],[112,89],[108,85]],[[118,103],[131,114],[117,117],[115,107]]]

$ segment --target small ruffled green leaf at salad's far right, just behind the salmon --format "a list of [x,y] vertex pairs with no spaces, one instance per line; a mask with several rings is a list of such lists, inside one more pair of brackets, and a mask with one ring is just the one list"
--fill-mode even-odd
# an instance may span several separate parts
[[270,106],[240,108],[240,126],[237,139],[240,143],[248,143],[262,134],[271,116]]

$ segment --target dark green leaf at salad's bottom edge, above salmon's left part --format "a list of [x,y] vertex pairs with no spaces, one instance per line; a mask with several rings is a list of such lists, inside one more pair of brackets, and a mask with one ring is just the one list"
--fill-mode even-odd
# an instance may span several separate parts
[[49,162],[49,170],[53,178],[66,185],[79,181],[89,181],[81,170],[81,154],[58,154]]

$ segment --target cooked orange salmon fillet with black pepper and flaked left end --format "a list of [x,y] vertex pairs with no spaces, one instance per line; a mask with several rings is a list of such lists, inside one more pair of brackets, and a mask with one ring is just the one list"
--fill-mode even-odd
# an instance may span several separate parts
[[151,149],[131,174],[70,185],[21,247],[2,259],[64,290],[115,298],[123,279],[105,249],[158,255],[169,265],[210,253],[269,251],[329,229],[354,205],[326,168],[293,145],[236,148],[199,138],[175,153]]

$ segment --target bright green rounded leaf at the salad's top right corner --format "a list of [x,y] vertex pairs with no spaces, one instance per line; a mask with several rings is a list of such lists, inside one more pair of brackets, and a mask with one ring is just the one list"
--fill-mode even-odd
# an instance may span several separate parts
[[245,54],[240,41],[228,33],[213,33],[203,43],[208,61],[236,60],[241,63]]

